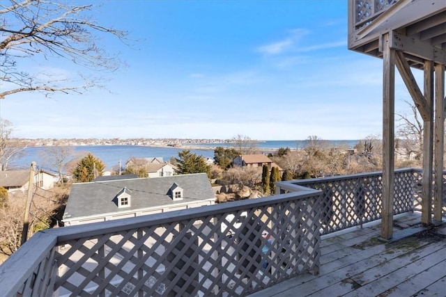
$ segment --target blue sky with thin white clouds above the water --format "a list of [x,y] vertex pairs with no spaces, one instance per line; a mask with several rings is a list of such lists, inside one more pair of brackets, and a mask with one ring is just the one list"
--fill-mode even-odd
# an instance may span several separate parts
[[[20,138],[380,136],[383,61],[348,50],[347,13],[345,0],[103,1],[91,15],[132,42],[98,43],[126,66],[82,95],[10,95],[0,117]],[[20,63],[79,72],[61,59]],[[410,113],[398,75],[395,90],[395,110]]]

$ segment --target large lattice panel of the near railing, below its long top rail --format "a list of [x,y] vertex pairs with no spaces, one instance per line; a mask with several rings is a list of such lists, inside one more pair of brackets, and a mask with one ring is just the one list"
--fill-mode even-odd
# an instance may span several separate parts
[[69,296],[245,296],[318,273],[317,197],[65,243],[54,287]]

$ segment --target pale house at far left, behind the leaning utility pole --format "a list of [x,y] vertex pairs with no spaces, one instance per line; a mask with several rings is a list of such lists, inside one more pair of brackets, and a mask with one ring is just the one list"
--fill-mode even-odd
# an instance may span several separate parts
[[[56,175],[44,170],[36,170],[33,175],[33,183],[38,188],[48,190],[54,186]],[[0,186],[8,192],[28,190],[29,169],[0,171]]]

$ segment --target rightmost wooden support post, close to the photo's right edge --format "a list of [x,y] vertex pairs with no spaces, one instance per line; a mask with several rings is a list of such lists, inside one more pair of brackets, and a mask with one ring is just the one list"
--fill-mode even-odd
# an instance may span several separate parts
[[445,65],[435,65],[435,188],[433,192],[433,218],[441,221],[443,207],[443,153],[445,149]]

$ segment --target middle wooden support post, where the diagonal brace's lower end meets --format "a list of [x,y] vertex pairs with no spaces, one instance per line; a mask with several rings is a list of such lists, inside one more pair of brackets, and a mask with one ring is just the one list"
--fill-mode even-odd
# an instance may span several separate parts
[[424,120],[423,129],[423,182],[421,221],[431,224],[432,217],[432,160],[433,160],[433,62],[424,62],[424,98],[429,117]]

